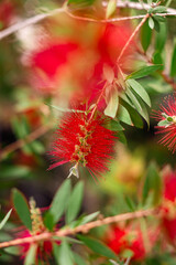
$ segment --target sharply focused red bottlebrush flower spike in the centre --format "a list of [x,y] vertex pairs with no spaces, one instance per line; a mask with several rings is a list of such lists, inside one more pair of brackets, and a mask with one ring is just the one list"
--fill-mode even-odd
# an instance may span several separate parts
[[48,169],[72,162],[75,166],[68,177],[79,177],[78,165],[88,168],[92,177],[100,177],[108,170],[116,138],[111,130],[102,126],[105,123],[100,116],[90,118],[85,113],[64,116],[50,152],[56,162]]

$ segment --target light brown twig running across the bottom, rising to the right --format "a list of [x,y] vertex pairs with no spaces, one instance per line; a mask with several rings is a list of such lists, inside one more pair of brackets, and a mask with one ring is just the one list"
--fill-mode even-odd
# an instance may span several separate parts
[[79,225],[75,229],[65,227],[63,230],[58,230],[58,231],[53,232],[53,233],[45,232],[45,233],[42,233],[40,235],[29,236],[29,237],[24,237],[24,239],[16,239],[16,240],[12,240],[12,241],[9,241],[9,242],[2,242],[2,243],[0,243],[0,248],[21,245],[21,244],[24,244],[24,243],[32,244],[32,243],[35,243],[35,242],[38,242],[38,241],[51,240],[54,236],[64,237],[64,236],[67,236],[67,235],[75,235],[77,233],[87,233],[89,230],[101,226],[101,225],[107,225],[107,224],[111,224],[111,223],[127,221],[127,220],[130,220],[130,219],[140,219],[140,218],[144,218],[144,216],[154,214],[155,212],[156,212],[156,210],[150,209],[150,210],[118,214],[116,216],[109,216],[109,218],[106,218],[103,220],[97,220],[97,221],[94,221],[94,222],[90,222],[90,223],[87,223],[87,224],[82,224],[82,225]]

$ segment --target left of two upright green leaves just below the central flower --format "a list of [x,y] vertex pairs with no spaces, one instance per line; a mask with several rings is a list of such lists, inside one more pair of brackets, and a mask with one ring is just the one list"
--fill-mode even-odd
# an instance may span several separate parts
[[[63,213],[68,204],[69,195],[70,195],[70,180],[67,179],[64,181],[62,187],[59,187],[59,189],[57,190],[57,192],[53,199],[52,205],[44,219],[45,222],[47,219],[50,219],[51,215],[53,216],[53,220],[51,220],[53,225],[58,222],[58,220],[63,215]],[[48,222],[48,220],[47,220],[47,222]],[[50,225],[50,229],[51,227],[52,227],[52,225]]]

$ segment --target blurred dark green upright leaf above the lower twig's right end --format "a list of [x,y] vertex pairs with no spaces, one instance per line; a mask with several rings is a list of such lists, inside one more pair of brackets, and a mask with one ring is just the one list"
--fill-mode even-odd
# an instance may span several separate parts
[[153,203],[158,203],[162,192],[162,181],[154,162],[151,162],[146,172],[146,178],[143,187],[143,204],[145,203],[151,192],[154,194]]

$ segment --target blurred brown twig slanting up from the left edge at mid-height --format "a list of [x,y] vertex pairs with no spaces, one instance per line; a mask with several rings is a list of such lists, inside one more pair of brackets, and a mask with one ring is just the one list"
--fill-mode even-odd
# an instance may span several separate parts
[[18,150],[19,148],[23,147],[24,145],[37,139],[42,135],[46,134],[50,129],[51,129],[51,125],[47,125],[47,126],[43,125],[40,128],[37,128],[36,130],[32,131],[30,135],[28,135],[24,139],[19,139],[15,142],[4,147],[0,151],[0,160],[6,158],[9,153],[11,153],[11,152]]

